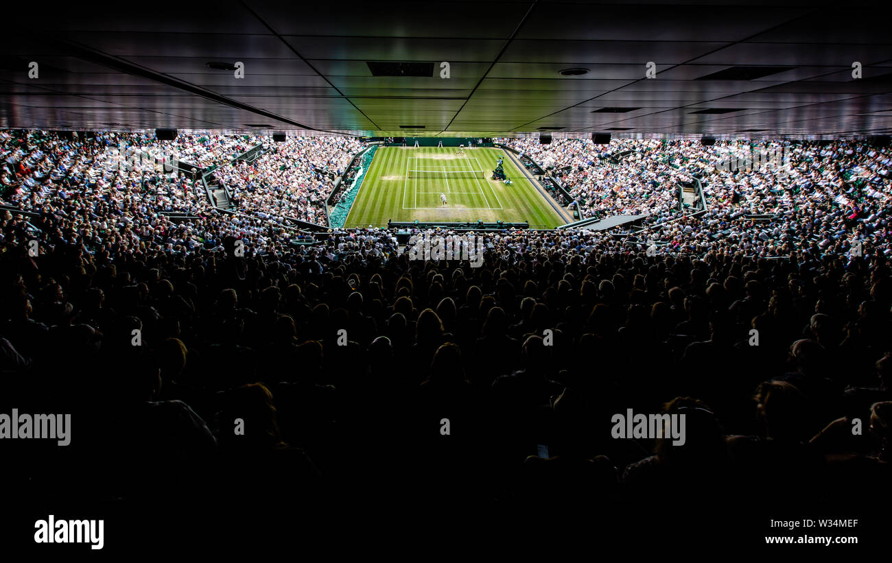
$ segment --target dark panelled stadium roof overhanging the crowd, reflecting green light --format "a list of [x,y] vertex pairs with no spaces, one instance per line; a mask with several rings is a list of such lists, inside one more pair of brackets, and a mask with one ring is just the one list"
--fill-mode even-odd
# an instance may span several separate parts
[[[892,41],[878,10],[789,0],[18,3],[4,8],[0,127],[875,135],[892,131]],[[568,69],[582,70],[560,74]]]

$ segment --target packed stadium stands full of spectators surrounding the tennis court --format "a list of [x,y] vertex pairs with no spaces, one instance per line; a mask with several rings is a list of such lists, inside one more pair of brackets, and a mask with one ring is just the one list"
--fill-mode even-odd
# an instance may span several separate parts
[[[605,512],[888,501],[888,451],[848,431],[892,439],[888,147],[788,143],[784,170],[743,172],[716,167],[721,141],[496,141],[583,217],[640,221],[486,224],[482,267],[412,261],[403,235],[443,225],[294,223],[327,226],[357,139],[248,161],[264,139],[0,132],[0,412],[49,401],[93,430],[70,470],[32,452],[4,486],[308,514],[519,514],[546,491]],[[212,170],[234,210],[161,160],[112,166],[122,143]],[[706,208],[680,207],[679,183]],[[95,370],[67,377],[75,362]],[[689,412],[688,445],[611,439],[630,407]]]

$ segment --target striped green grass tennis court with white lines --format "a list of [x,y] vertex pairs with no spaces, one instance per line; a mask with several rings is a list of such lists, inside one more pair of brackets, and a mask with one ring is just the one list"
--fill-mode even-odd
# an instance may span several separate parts
[[[526,221],[533,229],[565,224],[501,149],[382,147],[359,188],[346,228],[387,221]],[[491,180],[499,157],[514,184]],[[447,205],[440,195],[445,194]]]

